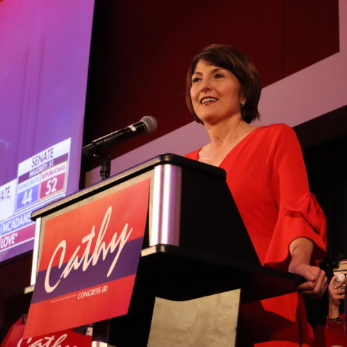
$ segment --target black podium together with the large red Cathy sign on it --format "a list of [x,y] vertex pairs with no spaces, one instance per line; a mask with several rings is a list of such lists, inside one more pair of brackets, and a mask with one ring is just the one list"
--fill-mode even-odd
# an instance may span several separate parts
[[[291,293],[304,280],[260,265],[223,169],[170,153],[56,201],[31,218],[36,221],[35,291],[26,336],[118,316],[108,332],[94,325],[99,328],[94,342],[145,347],[155,297],[190,301],[241,288],[248,302]],[[191,307],[185,310],[189,314]],[[173,323],[169,312],[162,317]]]

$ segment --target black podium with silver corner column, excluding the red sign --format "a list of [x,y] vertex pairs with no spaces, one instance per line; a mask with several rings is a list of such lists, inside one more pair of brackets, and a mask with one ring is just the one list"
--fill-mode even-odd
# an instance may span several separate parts
[[145,178],[151,182],[149,213],[129,312],[96,323],[96,344],[147,346],[155,298],[194,302],[241,289],[242,302],[249,302],[291,293],[303,282],[260,265],[223,169],[167,153],[33,212],[31,285],[46,221]]

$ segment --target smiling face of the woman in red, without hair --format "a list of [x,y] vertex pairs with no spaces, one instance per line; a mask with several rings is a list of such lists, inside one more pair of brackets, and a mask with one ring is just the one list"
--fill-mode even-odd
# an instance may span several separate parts
[[198,118],[212,124],[239,115],[240,103],[244,101],[235,75],[205,60],[196,64],[190,97]]

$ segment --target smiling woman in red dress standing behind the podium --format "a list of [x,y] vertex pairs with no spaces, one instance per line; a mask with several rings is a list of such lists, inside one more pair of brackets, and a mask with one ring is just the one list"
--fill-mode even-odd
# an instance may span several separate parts
[[[303,276],[298,291],[319,297],[327,279],[314,261],[325,255],[325,217],[294,130],[251,125],[260,91],[253,62],[237,49],[214,44],[199,53],[187,74],[187,105],[210,143],[186,156],[226,170],[260,262]],[[237,345],[312,346],[301,293],[242,305]]]

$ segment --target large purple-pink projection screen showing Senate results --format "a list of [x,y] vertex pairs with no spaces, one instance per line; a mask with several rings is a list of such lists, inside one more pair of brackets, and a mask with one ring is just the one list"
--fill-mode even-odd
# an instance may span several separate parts
[[94,0],[0,1],[0,262],[78,190]]

